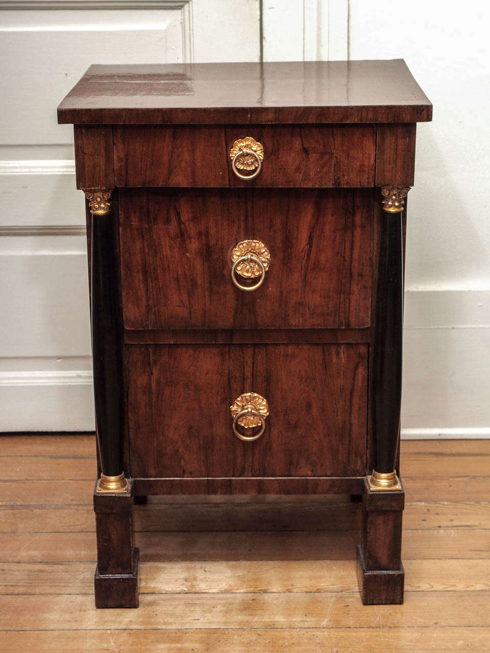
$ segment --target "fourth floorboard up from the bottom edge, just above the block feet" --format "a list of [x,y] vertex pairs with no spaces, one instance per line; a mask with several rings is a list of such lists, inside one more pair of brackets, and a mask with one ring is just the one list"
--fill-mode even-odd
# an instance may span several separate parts
[[[93,484],[92,484],[93,485]],[[229,507],[229,504],[228,504]],[[225,506],[223,506],[224,510]],[[329,514],[325,503],[325,518]],[[56,539],[56,546],[54,540]],[[142,532],[136,535],[141,562],[232,560],[353,560],[360,541],[356,528],[325,535],[307,532]],[[412,530],[403,532],[402,560],[487,560],[485,530]],[[3,562],[90,562],[97,558],[94,532],[0,535]],[[423,549],[422,549],[423,547]],[[140,564],[141,564],[140,562]],[[95,569],[95,564],[93,565]]]

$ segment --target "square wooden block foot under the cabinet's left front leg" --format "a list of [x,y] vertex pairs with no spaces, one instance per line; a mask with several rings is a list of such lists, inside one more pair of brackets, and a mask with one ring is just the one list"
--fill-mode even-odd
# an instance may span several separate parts
[[95,607],[137,608],[139,550],[133,552],[133,573],[99,574],[95,568]]

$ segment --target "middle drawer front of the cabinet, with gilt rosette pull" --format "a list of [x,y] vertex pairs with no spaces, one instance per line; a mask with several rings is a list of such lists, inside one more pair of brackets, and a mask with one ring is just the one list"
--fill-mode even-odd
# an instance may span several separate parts
[[125,328],[370,324],[372,189],[119,193]]

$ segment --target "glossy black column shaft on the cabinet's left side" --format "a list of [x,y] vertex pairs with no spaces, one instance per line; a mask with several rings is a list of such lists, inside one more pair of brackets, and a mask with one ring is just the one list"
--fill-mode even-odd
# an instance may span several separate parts
[[102,472],[116,476],[122,471],[122,353],[112,214],[93,215],[91,235],[91,327],[97,444]]

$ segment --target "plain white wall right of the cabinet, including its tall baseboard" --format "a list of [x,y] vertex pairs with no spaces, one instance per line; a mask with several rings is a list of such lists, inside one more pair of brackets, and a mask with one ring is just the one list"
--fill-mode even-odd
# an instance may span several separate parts
[[406,437],[490,436],[489,22],[474,0],[350,1],[350,58],[404,58],[434,104],[408,204]]

